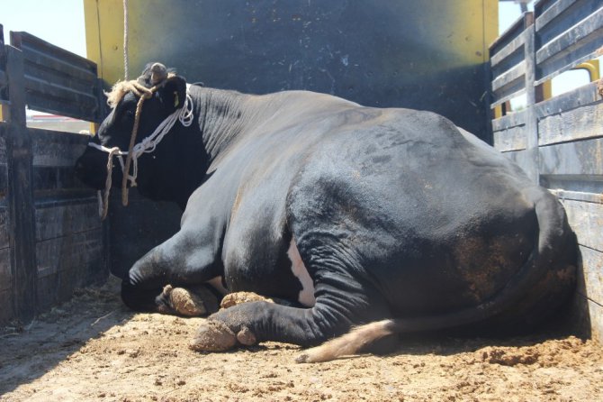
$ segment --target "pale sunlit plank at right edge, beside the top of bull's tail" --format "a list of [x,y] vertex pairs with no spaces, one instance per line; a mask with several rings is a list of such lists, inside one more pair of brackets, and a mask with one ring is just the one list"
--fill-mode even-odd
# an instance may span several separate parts
[[578,243],[603,252],[603,204],[561,199],[568,222],[578,236]]

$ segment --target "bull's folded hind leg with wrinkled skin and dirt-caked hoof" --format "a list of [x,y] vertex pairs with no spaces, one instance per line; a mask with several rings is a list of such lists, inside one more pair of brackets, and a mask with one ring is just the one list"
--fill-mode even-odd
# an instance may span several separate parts
[[[349,287],[319,285],[317,295],[316,305],[311,308],[259,301],[220,310],[202,324],[191,348],[196,351],[221,352],[237,344],[251,345],[264,341],[313,346],[347,333],[352,325],[391,316],[383,298],[366,287],[353,290]],[[362,343],[362,337],[357,339]],[[390,351],[393,345],[395,339],[386,337],[371,345],[372,352]],[[366,345],[356,346],[357,350]]]

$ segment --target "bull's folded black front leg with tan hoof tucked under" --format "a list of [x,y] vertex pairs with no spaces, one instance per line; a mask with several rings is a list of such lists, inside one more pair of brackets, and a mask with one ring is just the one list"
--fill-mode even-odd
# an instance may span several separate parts
[[[133,310],[207,315],[218,310],[220,294],[207,284],[221,275],[212,243],[179,232],[138,260],[121,282],[121,299]],[[194,241],[196,240],[196,242]]]

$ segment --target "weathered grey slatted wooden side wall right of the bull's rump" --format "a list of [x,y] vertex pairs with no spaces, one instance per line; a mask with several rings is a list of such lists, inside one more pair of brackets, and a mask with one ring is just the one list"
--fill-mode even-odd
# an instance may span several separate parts
[[[550,96],[551,79],[603,54],[600,0],[540,0],[491,44],[494,145],[560,197],[581,251],[579,293],[603,339],[603,100],[598,82]],[[597,62],[591,62],[595,67]],[[596,72],[595,72],[596,73]],[[526,97],[512,111],[509,101]]]

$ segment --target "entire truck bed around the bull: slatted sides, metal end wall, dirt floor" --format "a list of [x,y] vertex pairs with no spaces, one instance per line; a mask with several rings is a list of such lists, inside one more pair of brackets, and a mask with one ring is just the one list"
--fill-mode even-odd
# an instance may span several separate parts
[[[26,32],[4,44],[0,29],[0,400],[603,397],[599,77],[549,91],[551,78],[600,55],[600,2],[540,0],[498,39],[494,0],[178,1],[170,13],[156,0],[125,3],[124,26],[121,0],[85,0],[90,59]],[[102,90],[151,60],[209,87],[311,89],[433,110],[479,133],[562,199],[581,251],[572,328],[506,340],[409,336],[388,356],[314,366],[293,363],[298,347],[281,343],[189,351],[202,318],[134,314],[114,278],[177,230],[178,208],[135,192],[124,207],[114,194],[101,221],[96,194],[73,171],[87,136],[25,124],[26,105],[100,123]],[[514,111],[517,96],[527,105]]]

